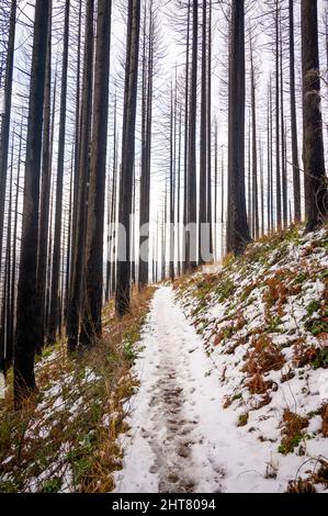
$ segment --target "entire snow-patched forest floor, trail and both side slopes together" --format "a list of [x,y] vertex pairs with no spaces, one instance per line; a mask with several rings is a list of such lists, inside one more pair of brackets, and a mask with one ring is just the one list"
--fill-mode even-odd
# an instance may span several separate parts
[[[327,492],[328,227],[135,292],[0,402],[0,492]],[[155,294],[154,294],[155,292]]]

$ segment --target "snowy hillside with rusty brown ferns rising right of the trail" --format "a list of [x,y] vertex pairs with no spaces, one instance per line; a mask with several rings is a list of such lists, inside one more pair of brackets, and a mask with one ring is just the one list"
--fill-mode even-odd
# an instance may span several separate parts
[[259,478],[292,492],[328,489],[328,228],[302,235],[265,237],[219,272],[176,283],[241,463],[253,455]]

